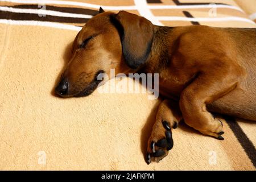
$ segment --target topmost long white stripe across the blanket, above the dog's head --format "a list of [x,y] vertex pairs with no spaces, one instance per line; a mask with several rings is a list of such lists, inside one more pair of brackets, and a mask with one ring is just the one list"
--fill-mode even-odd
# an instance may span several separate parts
[[[0,2],[13,2],[13,3],[27,3],[27,4],[55,4],[55,5],[73,5],[81,7],[90,7],[93,9],[99,9],[101,5],[94,5],[84,2],[75,1],[56,1],[56,0],[0,0]],[[137,6],[101,6],[105,10],[137,10]],[[226,8],[235,9],[244,12],[240,7],[232,5],[147,5],[148,9],[212,9],[212,8]]]

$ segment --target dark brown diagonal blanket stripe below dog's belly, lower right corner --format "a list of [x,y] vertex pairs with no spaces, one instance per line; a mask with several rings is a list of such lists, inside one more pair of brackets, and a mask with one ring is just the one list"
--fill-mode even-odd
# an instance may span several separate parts
[[253,163],[254,167],[256,168],[256,150],[253,143],[238,125],[236,119],[229,117],[228,115],[224,115],[224,119],[228,123],[234,135],[236,135],[238,142],[240,142],[243,150],[245,150],[247,156],[251,160],[251,163]]

